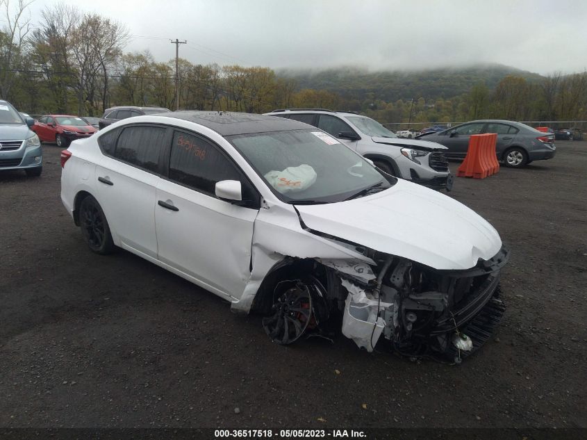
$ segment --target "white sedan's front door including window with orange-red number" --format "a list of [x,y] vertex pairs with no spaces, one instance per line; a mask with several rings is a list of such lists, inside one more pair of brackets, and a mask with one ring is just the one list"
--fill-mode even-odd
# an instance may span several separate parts
[[[215,184],[238,180],[248,206],[215,197]],[[158,259],[217,295],[240,297],[250,276],[259,196],[214,142],[176,129],[167,179],[156,190]]]

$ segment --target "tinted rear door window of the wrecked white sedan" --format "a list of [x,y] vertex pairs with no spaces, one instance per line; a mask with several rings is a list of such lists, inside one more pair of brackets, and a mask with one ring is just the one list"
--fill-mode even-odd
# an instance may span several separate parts
[[114,156],[121,161],[156,172],[166,131],[163,127],[126,127],[118,138]]

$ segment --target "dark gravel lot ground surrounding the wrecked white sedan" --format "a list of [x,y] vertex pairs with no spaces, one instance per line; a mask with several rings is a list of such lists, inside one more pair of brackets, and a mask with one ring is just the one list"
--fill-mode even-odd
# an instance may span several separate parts
[[45,144],[40,178],[0,173],[0,427],[586,428],[587,142],[556,145],[456,179],[512,257],[497,333],[449,366],[344,336],[275,345],[170,272],[92,254]]

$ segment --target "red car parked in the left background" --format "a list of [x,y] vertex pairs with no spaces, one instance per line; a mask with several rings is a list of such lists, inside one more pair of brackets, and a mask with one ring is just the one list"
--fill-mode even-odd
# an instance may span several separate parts
[[88,138],[97,129],[81,117],[72,115],[44,115],[31,127],[41,142],[56,142],[58,147],[67,148],[72,140]]

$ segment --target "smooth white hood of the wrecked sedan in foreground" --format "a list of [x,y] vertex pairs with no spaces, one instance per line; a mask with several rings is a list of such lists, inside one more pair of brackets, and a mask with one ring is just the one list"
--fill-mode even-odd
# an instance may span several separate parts
[[402,179],[367,197],[296,208],[310,229],[438,270],[472,268],[502,247],[495,228],[467,206]]

